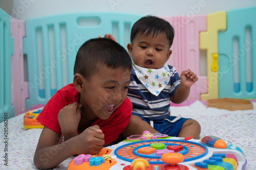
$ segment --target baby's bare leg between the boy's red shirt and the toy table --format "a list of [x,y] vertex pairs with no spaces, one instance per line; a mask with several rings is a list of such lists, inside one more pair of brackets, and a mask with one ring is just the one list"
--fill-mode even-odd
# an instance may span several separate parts
[[132,114],[129,124],[122,133],[122,137],[126,139],[131,135],[142,135],[143,131],[150,131],[151,133],[159,133],[150,124],[142,120],[139,116]]

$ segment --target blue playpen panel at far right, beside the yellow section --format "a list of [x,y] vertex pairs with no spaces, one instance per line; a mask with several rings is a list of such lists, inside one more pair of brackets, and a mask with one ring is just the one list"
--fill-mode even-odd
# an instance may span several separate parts
[[219,98],[256,98],[256,7],[227,11],[218,33]]

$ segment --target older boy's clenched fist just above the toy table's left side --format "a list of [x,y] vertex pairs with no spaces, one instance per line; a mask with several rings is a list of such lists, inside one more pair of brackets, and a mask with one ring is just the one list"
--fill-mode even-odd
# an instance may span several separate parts
[[104,144],[104,134],[98,125],[84,130],[80,135],[75,137],[75,148],[77,154],[96,155],[102,150]]

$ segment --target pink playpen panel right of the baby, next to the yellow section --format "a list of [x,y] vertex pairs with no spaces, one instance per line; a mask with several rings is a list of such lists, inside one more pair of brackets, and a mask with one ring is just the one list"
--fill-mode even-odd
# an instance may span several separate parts
[[163,17],[175,30],[174,42],[171,47],[173,51],[169,65],[175,66],[179,74],[183,70],[191,69],[199,80],[190,88],[187,101],[200,100],[200,94],[207,92],[206,77],[200,76],[200,53],[199,53],[199,33],[206,31],[206,16],[175,16]]

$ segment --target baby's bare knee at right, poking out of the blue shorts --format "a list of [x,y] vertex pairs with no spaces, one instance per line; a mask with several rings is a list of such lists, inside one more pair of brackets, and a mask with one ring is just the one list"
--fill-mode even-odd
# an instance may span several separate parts
[[192,136],[194,139],[199,139],[200,133],[201,133],[200,124],[194,119],[187,119],[184,122],[184,124],[178,134],[178,137]]

